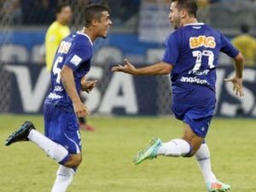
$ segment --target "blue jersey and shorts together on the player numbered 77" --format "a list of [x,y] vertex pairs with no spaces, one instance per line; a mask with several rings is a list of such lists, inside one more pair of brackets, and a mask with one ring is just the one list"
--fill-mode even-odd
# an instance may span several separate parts
[[215,108],[220,51],[239,54],[223,34],[203,23],[183,26],[166,39],[163,61],[173,66],[172,112],[200,137],[206,137]]

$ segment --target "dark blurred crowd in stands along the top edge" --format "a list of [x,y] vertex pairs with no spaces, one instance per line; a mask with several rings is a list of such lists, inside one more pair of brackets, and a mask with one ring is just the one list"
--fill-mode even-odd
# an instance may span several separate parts
[[[159,0],[155,0],[159,1]],[[247,7],[256,8],[256,0],[197,0],[199,5],[198,17],[201,21],[210,22],[211,8],[221,4],[221,9],[229,7],[236,11],[234,3],[242,3]],[[119,25],[129,20],[133,15],[138,15],[140,4],[143,0],[0,0],[1,23],[12,26],[49,25],[55,20],[55,7],[58,3],[70,3],[74,11],[74,21],[81,17],[82,9],[90,3],[103,3],[109,7],[115,24]],[[232,3],[232,6],[230,6]],[[213,5],[213,6],[212,6]],[[224,7],[224,8],[223,8]],[[218,6],[217,8],[218,9]],[[256,12],[256,9],[254,10]],[[213,10],[214,12],[214,10]],[[227,12],[227,11],[226,11]],[[80,21],[80,20],[79,20]],[[79,22],[77,21],[77,22]]]

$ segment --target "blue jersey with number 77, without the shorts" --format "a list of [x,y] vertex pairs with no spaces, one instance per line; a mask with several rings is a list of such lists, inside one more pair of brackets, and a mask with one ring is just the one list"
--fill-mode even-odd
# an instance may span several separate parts
[[239,51],[223,34],[203,23],[183,26],[166,39],[163,61],[172,64],[172,85],[204,85],[215,90],[218,55],[230,57]]

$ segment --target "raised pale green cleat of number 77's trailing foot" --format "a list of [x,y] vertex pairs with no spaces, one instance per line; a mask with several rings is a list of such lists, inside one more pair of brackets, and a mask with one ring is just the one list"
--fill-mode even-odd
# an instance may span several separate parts
[[148,147],[137,153],[137,155],[134,157],[133,163],[137,165],[143,162],[143,160],[153,160],[154,158],[157,157],[157,151],[161,145],[162,141],[160,140],[160,138],[153,137]]

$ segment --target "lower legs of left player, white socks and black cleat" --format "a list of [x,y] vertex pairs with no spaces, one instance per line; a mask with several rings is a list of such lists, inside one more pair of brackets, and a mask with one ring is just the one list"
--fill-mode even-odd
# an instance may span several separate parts
[[73,181],[76,167],[79,166],[82,160],[81,154],[69,154],[67,149],[62,145],[51,141],[48,137],[36,131],[29,121],[22,125],[18,131],[15,131],[15,133],[7,139],[6,144],[10,145],[20,141],[31,141],[37,144],[49,157],[65,165],[60,166],[58,169],[55,184],[51,190],[52,192],[65,192],[68,185]]

